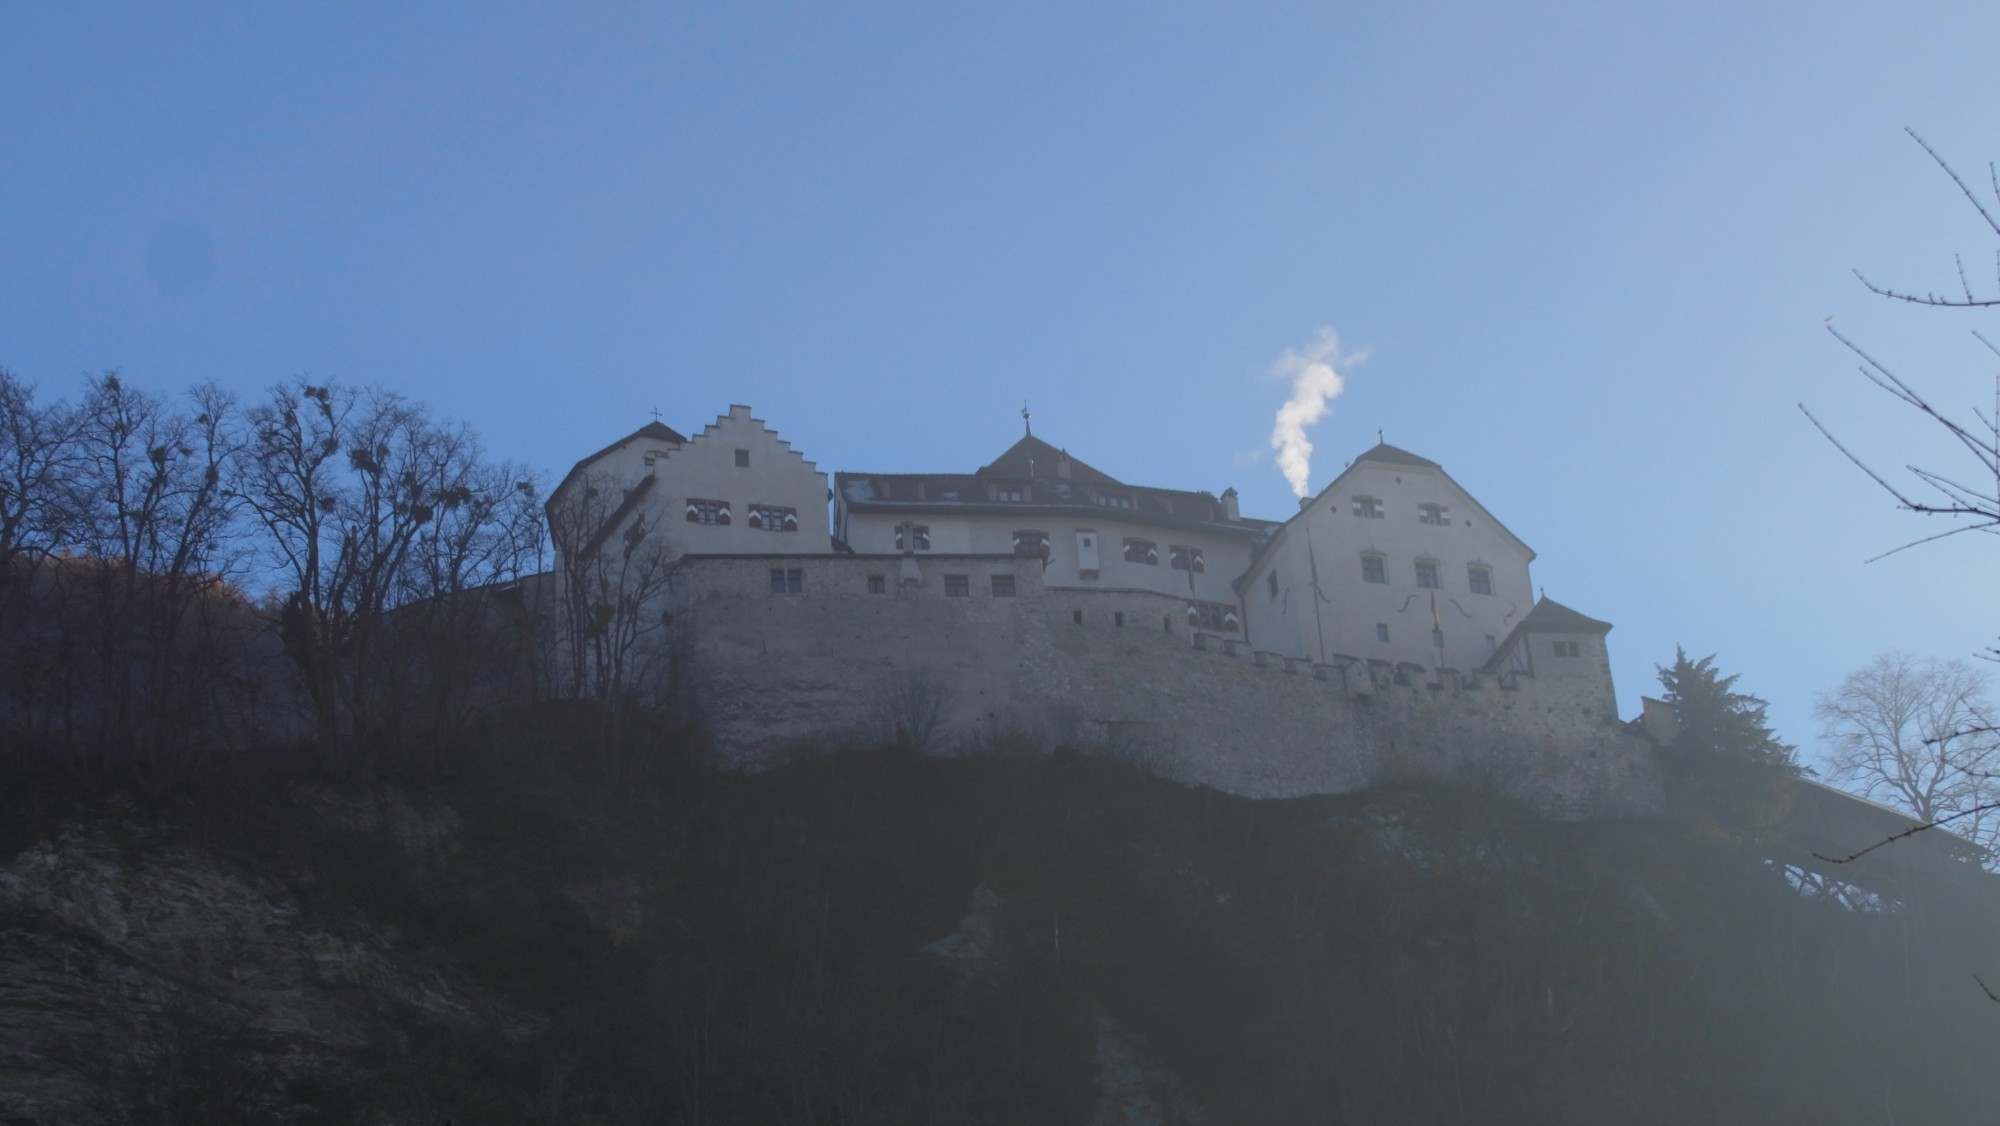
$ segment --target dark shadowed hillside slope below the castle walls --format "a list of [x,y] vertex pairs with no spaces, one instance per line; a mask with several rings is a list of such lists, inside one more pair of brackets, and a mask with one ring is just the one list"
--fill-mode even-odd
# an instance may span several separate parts
[[1986,1122],[1994,904],[1076,754],[14,780],[0,1120]]

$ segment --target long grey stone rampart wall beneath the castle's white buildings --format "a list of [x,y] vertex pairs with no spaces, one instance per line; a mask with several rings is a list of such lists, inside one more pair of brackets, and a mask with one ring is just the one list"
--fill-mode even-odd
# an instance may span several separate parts
[[[772,590],[774,564],[800,572],[796,594]],[[1476,776],[1560,816],[1658,806],[1650,744],[1602,684],[1314,666],[1190,634],[1184,612],[1150,592],[1044,590],[1018,556],[690,556],[674,632],[696,718],[748,768],[886,738],[936,700],[958,744],[1028,734],[1256,798]]]

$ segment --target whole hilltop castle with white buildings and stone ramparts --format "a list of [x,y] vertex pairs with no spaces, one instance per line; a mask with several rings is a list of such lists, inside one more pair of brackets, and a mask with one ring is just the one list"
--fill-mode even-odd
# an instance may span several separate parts
[[[830,488],[732,406],[580,460],[550,514],[558,554],[656,624],[724,762],[1028,734],[1248,796],[1476,774],[1564,816],[1658,804],[1610,624],[1534,600],[1528,544],[1396,446],[1274,522],[1032,434],[974,472]],[[658,582],[624,578],[638,560]]]

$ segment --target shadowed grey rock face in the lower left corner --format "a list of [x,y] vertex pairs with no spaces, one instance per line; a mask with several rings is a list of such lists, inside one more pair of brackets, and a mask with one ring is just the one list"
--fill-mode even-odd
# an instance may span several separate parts
[[[408,828],[392,806],[328,812]],[[342,1072],[386,1010],[536,1028],[394,926],[308,920],[310,872],[276,880],[134,832],[70,824],[0,868],[0,1116],[150,1120],[174,1098],[274,1114],[288,1082]]]

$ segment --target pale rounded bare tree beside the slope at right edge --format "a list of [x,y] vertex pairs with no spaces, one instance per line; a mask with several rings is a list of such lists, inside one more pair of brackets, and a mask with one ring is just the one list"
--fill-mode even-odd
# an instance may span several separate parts
[[2000,736],[1986,674],[1962,658],[1886,652],[1814,704],[1832,778],[1980,846],[2000,842]]

